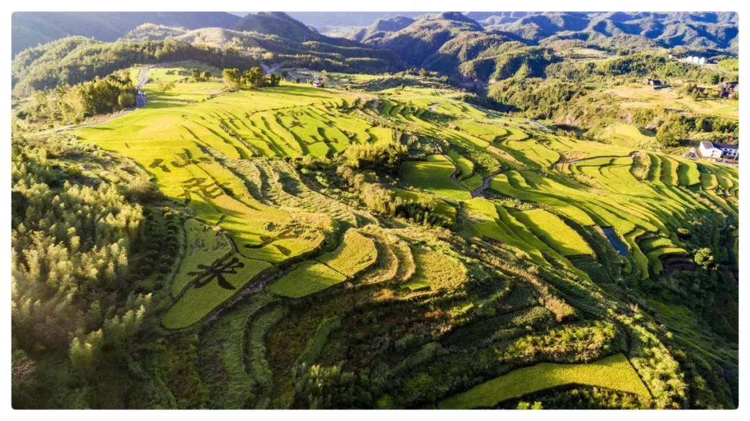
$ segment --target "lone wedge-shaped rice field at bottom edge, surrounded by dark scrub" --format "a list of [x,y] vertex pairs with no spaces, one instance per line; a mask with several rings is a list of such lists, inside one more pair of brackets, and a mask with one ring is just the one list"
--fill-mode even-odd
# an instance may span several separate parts
[[565,384],[580,384],[632,393],[643,399],[650,394],[633,366],[622,354],[590,364],[540,363],[516,369],[440,402],[443,409],[493,408],[508,399]]

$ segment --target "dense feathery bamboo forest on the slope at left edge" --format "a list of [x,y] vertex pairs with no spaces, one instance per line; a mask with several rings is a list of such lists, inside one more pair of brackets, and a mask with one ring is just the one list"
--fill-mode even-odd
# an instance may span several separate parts
[[158,193],[132,163],[66,137],[14,138],[12,159],[13,405],[87,406],[77,385],[132,363],[152,317],[139,282],[169,261],[169,234],[141,203]]

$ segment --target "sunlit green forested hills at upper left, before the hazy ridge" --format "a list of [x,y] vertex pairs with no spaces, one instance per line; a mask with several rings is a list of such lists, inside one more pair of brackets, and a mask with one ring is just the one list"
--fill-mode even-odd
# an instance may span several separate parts
[[[187,25],[186,25],[187,26]],[[404,70],[394,52],[344,38],[326,37],[286,13],[257,13],[239,30],[143,24],[115,42],[65,37],[20,52],[11,65],[13,95],[75,85],[134,64],[196,60],[248,69],[260,61],[349,73]]]

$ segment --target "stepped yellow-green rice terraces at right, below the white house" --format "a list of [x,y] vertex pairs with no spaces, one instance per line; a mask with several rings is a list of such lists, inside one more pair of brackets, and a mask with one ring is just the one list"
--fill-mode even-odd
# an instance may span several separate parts
[[[585,146],[580,145],[579,150],[586,151]],[[490,188],[502,196],[542,205],[583,226],[613,228],[628,244],[628,258],[639,279],[649,277],[649,268],[661,273],[660,261],[666,255],[685,252],[670,241],[658,252],[646,250],[649,252],[646,255],[638,243],[640,236],[652,233],[672,237],[674,230],[684,226],[685,221],[700,219],[700,213],[714,206],[700,201],[701,197],[718,205],[722,205],[724,199],[736,205],[737,196],[731,189],[737,174],[729,167],[701,163],[706,171],[701,173],[693,161],[649,153],[647,182],[644,183],[634,177],[631,157],[597,155],[594,152],[591,159],[556,165],[555,171],[547,172],[546,177],[529,170],[503,172],[490,181]],[[713,181],[720,186],[726,174],[731,174],[724,178],[729,192],[724,199],[717,199],[712,193],[716,187]],[[703,188],[696,191],[695,187],[699,186]],[[733,214],[732,205],[724,209]]]

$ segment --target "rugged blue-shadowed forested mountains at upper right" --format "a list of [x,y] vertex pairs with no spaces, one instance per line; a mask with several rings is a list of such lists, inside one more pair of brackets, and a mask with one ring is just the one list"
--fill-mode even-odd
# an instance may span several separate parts
[[624,55],[677,48],[733,55],[737,34],[736,13],[448,12],[397,16],[345,36],[390,49],[411,67],[490,82],[544,76],[559,61],[552,50],[571,46]]

